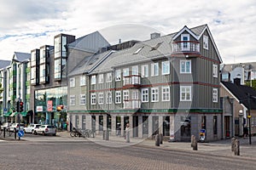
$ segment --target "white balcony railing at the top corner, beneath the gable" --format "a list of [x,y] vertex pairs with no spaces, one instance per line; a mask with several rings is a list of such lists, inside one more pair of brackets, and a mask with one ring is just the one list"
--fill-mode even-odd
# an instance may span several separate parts
[[172,42],[173,53],[200,53],[200,42],[178,41]]

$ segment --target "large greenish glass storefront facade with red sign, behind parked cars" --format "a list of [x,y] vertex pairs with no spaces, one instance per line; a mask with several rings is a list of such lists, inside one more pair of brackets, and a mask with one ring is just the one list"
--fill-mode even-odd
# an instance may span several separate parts
[[60,105],[67,105],[67,87],[35,91],[35,123],[67,129],[67,113],[57,110]]

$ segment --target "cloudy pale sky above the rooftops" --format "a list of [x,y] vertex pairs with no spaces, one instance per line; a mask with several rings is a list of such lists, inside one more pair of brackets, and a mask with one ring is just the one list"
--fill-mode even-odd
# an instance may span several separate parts
[[224,64],[256,62],[255,0],[0,0],[0,59],[100,31],[111,43],[207,24]]

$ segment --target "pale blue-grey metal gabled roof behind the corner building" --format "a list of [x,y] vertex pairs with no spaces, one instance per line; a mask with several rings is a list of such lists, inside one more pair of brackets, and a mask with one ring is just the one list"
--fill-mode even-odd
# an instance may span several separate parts
[[99,31],[92,32],[84,37],[79,37],[74,42],[68,44],[68,48],[85,50],[91,53],[96,53],[99,48],[110,46],[110,43],[102,37]]

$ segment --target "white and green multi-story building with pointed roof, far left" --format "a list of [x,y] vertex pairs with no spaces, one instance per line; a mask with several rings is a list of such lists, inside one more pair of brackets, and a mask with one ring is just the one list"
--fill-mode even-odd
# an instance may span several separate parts
[[[24,102],[24,111],[20,112],[21,122],[29,122],[30,115],[30,54],[15,52],[11,63],[1,73],[3,77],[3,122],[18,122],[15,102]],[[28,113],[28,115],[27,115]]]

